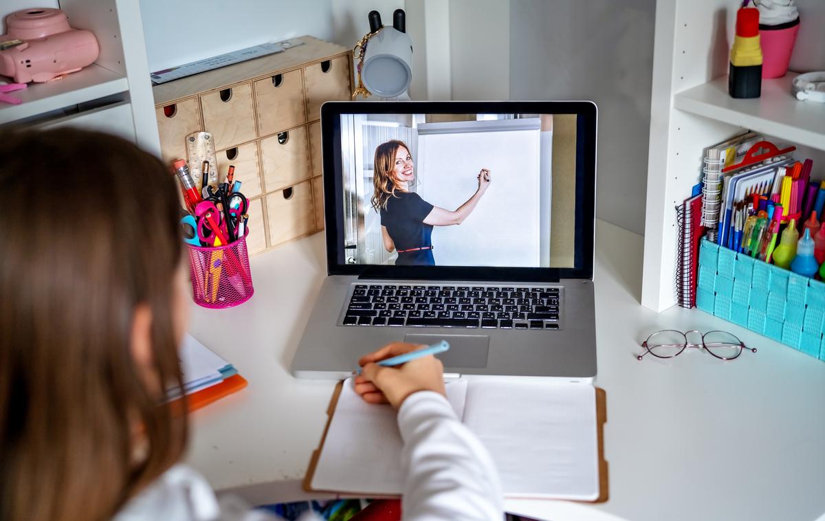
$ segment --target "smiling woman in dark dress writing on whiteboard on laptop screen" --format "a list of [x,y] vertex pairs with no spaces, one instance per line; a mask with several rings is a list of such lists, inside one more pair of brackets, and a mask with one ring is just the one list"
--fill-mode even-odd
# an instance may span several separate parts
[[490,185],[490,171],[479,172],[479,188],[458,209],[427,203],[409,191],[415,180],[413,156],[403,141],[381,143],[375,148],[375,193],[372,207],[381,216],[381,235],[387,251],[397,251],[396,265],[436,265],[432,255],[432,227],[460,224],[479,204]]

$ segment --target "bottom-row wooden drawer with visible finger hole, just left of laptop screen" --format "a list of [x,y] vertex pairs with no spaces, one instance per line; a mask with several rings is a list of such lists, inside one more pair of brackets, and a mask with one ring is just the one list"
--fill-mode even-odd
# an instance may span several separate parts
[[272,246],[316,232],[312,183],[304,181],[266,195],[266,214]]

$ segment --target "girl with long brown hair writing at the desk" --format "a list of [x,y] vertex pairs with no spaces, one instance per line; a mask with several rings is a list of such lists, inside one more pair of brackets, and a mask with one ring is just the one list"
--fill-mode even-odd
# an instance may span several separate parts
[[[166,399],[191,306],[172,174],[111,135],[11,131],[0,186],[0,521],[228,519],[177,464],[186,417]],[[441,362],[375,364],[414,349],[366,354],[356,381],[398,409],[405,518],[502,519],[492,460],[446,401]]]

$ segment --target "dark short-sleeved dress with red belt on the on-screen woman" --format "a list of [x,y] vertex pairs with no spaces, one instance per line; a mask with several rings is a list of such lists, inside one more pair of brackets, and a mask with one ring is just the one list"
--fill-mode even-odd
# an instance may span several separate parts
[[432,256],[432,226],[424,224],[424,219],[432,208],[432,204],[422,199],[421,195],[396,192],[387,200],[387,208],[381,209],[381,226],[387,228],[398,251],[396,265],[436,264],[436,259]]

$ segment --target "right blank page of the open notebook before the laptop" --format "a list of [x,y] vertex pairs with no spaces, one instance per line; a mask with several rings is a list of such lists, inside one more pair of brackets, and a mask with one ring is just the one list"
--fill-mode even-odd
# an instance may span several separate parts
[[598,497],[595,387],[474,379],[464,425],[492,454],[507,497]]

